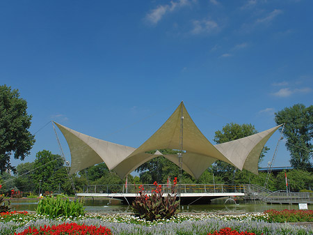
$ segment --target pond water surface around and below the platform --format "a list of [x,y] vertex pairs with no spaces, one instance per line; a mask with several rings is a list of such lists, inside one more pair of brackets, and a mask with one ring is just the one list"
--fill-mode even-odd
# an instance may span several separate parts
[[[226,199],[214,199],[211,204],[206,205],[182,205],[182,212],[190,213],[251,213],[263,212],[269,209],[278,211],[284,209],[299,209],[298,204],[264,204],[264,203],[245,203],[244,200],[234,202]],[[35,211],[38,199],[19,199],[11,202],[11,211]],[[131,206],[125,206],[120,201],[112,199],[85,199],[84,206],[87,212],[91,213],[131,213]],[[313,210],[313,205],[307,205],[309,210]]]

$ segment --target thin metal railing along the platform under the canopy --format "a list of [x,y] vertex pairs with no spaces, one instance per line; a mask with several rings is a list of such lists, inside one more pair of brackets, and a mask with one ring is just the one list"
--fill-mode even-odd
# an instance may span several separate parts
[[[176,190],[177,193],[218,193],[218,192],[245,192],[245,185],[225,185],[225,184],[161,184],[163,193],[171,193]],[[145,193],[149,194],[155,190],[155,185],[144,184]],[[85,193],[138,193],[139,185],[85,185]]]

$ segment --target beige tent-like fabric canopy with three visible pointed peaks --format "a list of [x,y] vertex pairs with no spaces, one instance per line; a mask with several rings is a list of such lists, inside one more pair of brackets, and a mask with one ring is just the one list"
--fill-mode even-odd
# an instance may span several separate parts
[[[154,154],[148,154],[147,151],[180,149],[181,120],[183,120],[183,149],[186,151],[182,155],[183,169],[197,179],[216,160],[223,160],[234,167],[257,174],[260,153],[269,137],[280,127],[276,126],[249,137],[214,146],[195,126],[184,103],[181,103],[161,128],[138,149],[90,137],[58,123],[56,126],[70,147],[71,173],[105,162],[109,169],[114,169],[123,178],[148,160],[162,155],[159,151]],[[177,155],[163,156],[178,165]]]

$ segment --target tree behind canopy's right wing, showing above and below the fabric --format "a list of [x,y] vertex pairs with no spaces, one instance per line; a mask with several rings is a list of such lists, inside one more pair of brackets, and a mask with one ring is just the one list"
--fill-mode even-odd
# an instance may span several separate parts
[[[252,124],[239,125],[238,123],[227,123],[226,126],[222,128],[222,130],[217,130],[215,132],[214,142],[216,142],[216,144],[222,144],[254,134],[257,134],[257,130]],[[259,162],[261,162],[262,158],[264,158],[264,153],[266,153],[266,151],[268,151],[268,148],[264,147],[259,158]],[[234,183],[236,167],[233,167],[227,162],[218,160],[215,162],[213,169],[214,174],[220,174],[221,176],[223,176],[223,180],[226,183],[229,183],[228,181],[231,180],[232,183]]]

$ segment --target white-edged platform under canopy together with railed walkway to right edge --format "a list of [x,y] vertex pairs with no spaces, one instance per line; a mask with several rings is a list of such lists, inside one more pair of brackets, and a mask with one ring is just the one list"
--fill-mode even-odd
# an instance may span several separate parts
[[[83,192],[77,193],[78,197],[109,197],[110,199],[120,199],[124,204],[131,204],[139,192],[139,185],[86,185]],[[209,204],[211,199],[228,197],[235,202],[236,197],[247,200],[259,200],[271,204],[313,204],[313,194],[311,192],[272,192],[259,185],[253,184],[162,184],[163,196],[177,192],[177,197],[182,204]],[[155,190],[155,185],[143,185],[145,194],[151,195]],[[226,200],[225,200],[226,201]]]

